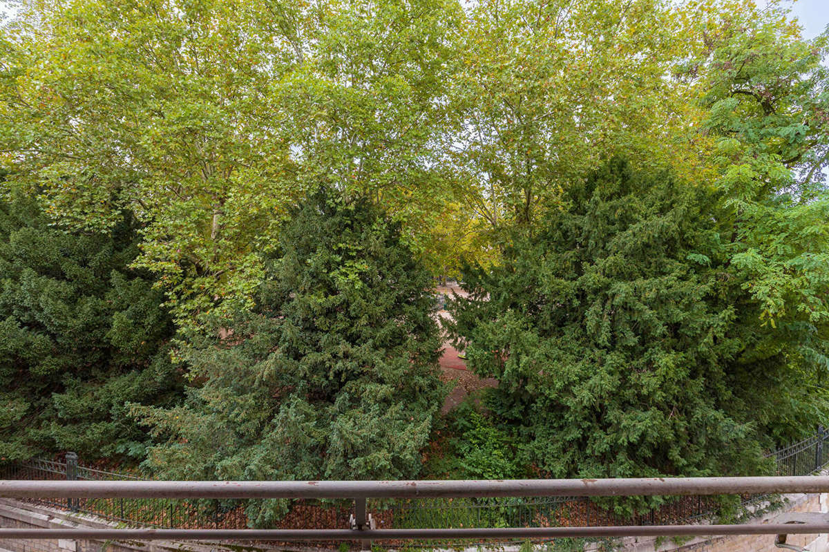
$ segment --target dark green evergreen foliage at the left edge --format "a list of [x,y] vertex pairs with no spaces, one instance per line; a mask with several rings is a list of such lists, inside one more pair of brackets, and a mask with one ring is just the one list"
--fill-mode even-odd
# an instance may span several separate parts
[[127,402],[168,404],[172,322],[126,217],[106,232],[51,225],[35,201],[0,205],[0,456],[74,450],[143,458]]

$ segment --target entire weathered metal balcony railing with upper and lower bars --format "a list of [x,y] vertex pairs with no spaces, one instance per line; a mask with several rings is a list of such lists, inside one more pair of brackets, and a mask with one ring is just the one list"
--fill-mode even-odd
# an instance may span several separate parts
[[550,539],[621,536],[782,535],[829,532],[829,515],[802,523],[753,525],[620,525],[593,527],[472,527],[376,529],[368,498],[471,498],[515,496],[705,496],[829,492],[829,477],[658,477],[626,479],[531,479],[504,481],[371,482],[149,482],[0,481],[6,498],[351,499],[354,513],[344,529],[0,529],[0,539],[95,540],[413,540]]

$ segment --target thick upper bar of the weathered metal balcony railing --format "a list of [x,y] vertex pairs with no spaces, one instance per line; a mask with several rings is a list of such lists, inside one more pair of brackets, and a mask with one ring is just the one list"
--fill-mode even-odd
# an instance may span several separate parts
[[829,476],[422,481],[0,481],[4,498],[427,498],[829,492]]

